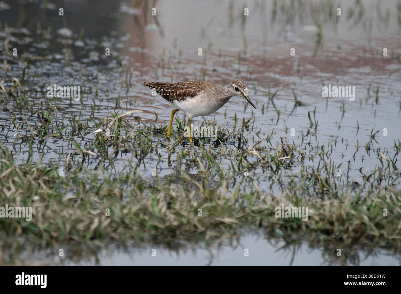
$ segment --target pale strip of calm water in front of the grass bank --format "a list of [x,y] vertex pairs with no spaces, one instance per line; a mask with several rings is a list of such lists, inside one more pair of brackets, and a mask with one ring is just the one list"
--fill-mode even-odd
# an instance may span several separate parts
[[[342,252],[310,247],[306,243],[265,239],[259,235],[245,235],[223,242],[213,248],[199,246],[151,245],[146,247],[109,245],[99,251],[71,252],[64,248],[64,256],[37,250],[22,265],[63,266],[400,266],[399,255],[383,250],[354,250]],[[58,249],[56,249],[58,251]],[[76,257],[71,258],[74,254]]]

